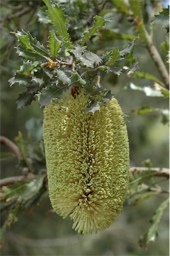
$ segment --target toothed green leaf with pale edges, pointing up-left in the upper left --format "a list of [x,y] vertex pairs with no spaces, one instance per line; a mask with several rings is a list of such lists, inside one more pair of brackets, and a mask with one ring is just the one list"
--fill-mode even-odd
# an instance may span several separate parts
[[[44,48],[39,41],[37,41],[36,37],[33,38],[31,33],[26,33],[25,31],[18,31],[17,33],[14,32],[16,35],[17,39],[19,40],[19,43],[23,46],[23,51],[25,49],[32,54],[40,55],[41,57],[50,57],[48,54],[48,51]],[[18,47],[19,49],[19,47]],[[19,49],[20,54],[21,54],[21,49]]]

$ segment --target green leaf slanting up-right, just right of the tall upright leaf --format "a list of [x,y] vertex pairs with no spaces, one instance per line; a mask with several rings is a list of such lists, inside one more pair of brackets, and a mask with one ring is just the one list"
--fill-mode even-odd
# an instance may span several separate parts
[[104,18],[96,15],[94,17],[94,25],[93,25],[93,27],[90,27],[88,29],[88,31],[85,31],[84,35],[82,35],[82,43],[81,43],[81,45],[84,46],[86,41],[88,41],[88,39],[90,39],[90,37],[92,37],[92,35],[94,35],[94,33],[96,33],[96,31],[98,31],[98,29],[100,29],[100,27],[103,27],[104,25],[105,25]]

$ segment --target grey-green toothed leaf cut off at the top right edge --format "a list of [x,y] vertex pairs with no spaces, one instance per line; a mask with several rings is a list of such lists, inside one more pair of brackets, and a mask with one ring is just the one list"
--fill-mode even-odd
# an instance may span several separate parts
[[161,25],[161,27],[167,29],[167,32],[169,33],[169,6],[167,9],[163,9],[159,15],[155,15],[155,18],[151,22],[151,25],[153,24]]

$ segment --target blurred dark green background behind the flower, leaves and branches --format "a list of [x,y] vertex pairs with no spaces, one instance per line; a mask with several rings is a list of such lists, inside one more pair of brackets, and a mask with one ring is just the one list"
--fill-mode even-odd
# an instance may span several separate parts
[[[128,9],[124,9],[124,5],[121,9],[118,1],[53,2],[61,4],[64,8],[68,33],[72,41],[78,41],[84,29],[92,26],[95,15],[108,20],[106,27],[100,29],[98,37],[88,41],[88,49],[94,53],[102,55],[117,46],[120,50],[125,49],[128,41],[132,41],[138,35],[135,26],[130,22],[129,15],[126,15]],[[163,62],[167,65],[167,49],[169,49],[167,31],[160,24],[150,25],[154,15],[167,8],[167,1],[143,0],[141,3],[145,27],[153,38]],[[17,109],[16,97],[23,91],[23,87],[20,85],[9,87],[9,79],[23,63],[22,58],[16,54],[17,39],[11,31],[17,32],[22,29],[29,31],[46,46],[51,24],[45,16],[45,10],[46,7],[41,0],[1,0],[1,135],[18,145],[21,141],[22,143],[26,141],[23,152],[27,155],[29,151],[31,161],[35,159],[35,165],[31,162],[35,173],[41,169],[42,175],[44,168],[42,107],[36,100],[27,107]],[[137,59],[139,67],[137,72],[149,73],[161,80],[157,67],[141,39],[135,41],[133,56]],[[133,89],[133,85],[140,88],[154,88],[154,81],[146,77],[140,79],[133,74],[118,76],[114,73],[104,73],[101,83],[104,88],[114,93],[127,115],[131,167],[143,165],[169,167],[168,114],[163,113],[163,110],[169,109],[169,99],[148,96],[143,91]],[[137,111],[142,107],[159,109],[159,111],[137,115]],[[1,145],[1,152],[9,152],[9,149]],[[14,156],[5,157],[1,160],[1,179],[22,175],[21,169]],[[38,185],[42,183],[43,181],[40,180]],[[156,177],[153,184],[157,184],[158,188],[160,185],[166,191],[169,183],[165,177]],[[35,191],[31,190],[31,192],[34,195]],[[109,229],[97,235],[80,235],[72,230],[69,217],[62,219],[52,213],[45,185],[39,192],[39,196],[37,197],[35,193],[36,198],[34,198],[38,207],[32,205],[27,211],[23,211],[19,221],[7,230],[1,255],[169,255],[168,209],[163,213],[158,227],[159,237],[156,243],[149,243],[147,249],[138,245],[139,237],[150,227],[149,221],[153,213],[167,198],[166,193],[155,193],[154,196],[137,205],[130,205],[127,200],[122,214]],[[27,189],[25,193],[28,193]],[[29,195],[25,195],[29,198]],[[38,200],[39,198],[41,200]],[[27,203],[31,204],[29,199]],[[6,214],[3,211],[1,225],[5,221]]]

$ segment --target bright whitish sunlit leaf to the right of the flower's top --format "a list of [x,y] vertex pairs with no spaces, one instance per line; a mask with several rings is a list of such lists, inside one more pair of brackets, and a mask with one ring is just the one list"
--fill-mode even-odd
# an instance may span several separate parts
[[156,90],[155,88],[151,88],[149,86],[139,87],[137,85],[134,85],[133,83],[129,83],[126,89],[142,91],[148,97],[163,97],[163,94],[161,93],[161,91]]

